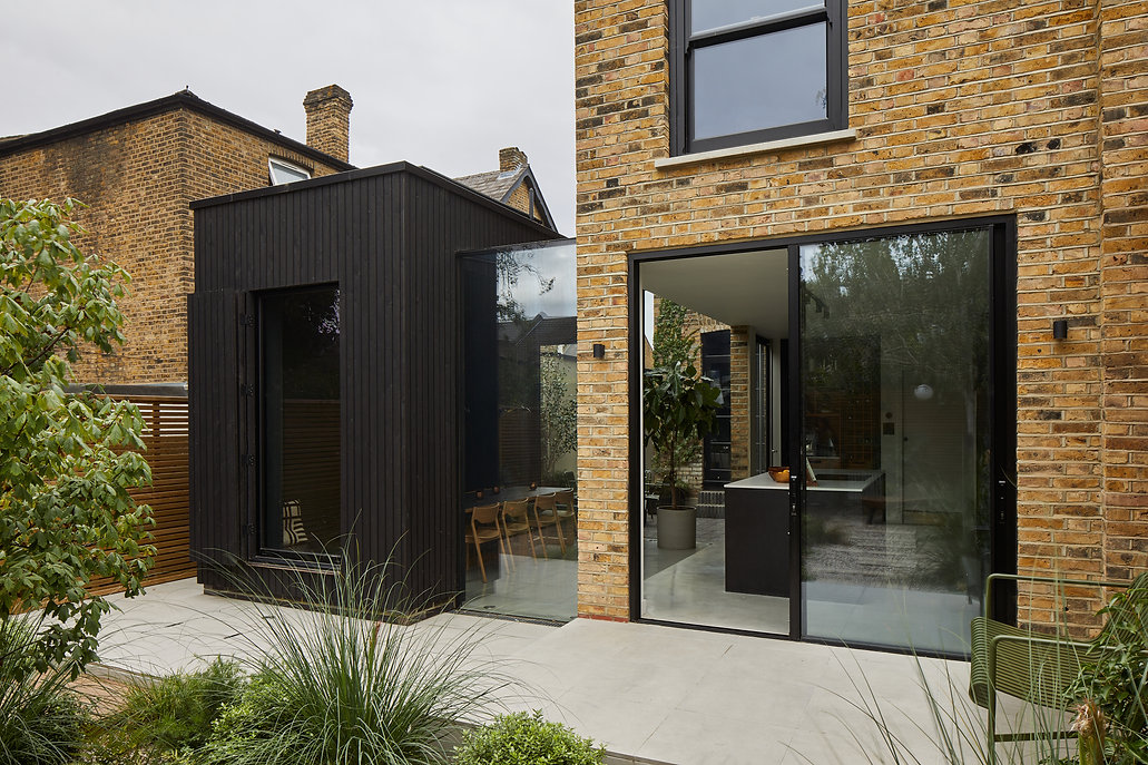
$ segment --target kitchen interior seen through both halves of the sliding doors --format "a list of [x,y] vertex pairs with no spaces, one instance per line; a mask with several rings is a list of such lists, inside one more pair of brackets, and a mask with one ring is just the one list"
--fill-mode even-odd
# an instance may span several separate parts
[[696,507],[685,549],[659,534],[665,456],[645,448],[642,616],[963,650],[988,555],[976,340],[987,337],[987,242],[964,232],[794,249],[639,265],[645,368],[665,361],[676,304],[691,361],[720,389],[677,476]]

